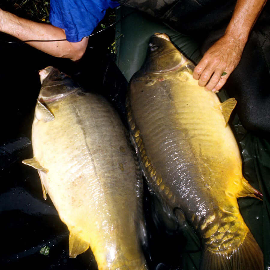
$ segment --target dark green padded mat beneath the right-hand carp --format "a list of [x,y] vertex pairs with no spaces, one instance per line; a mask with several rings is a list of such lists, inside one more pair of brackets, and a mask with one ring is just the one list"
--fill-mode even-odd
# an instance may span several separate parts
[[[117,19],[120,18],[122,18],[122,20],[116,27],[116,64],[128,81],[143,64],[149,38],[155,32],[169,35],[171,41],[178,49],[193,62],[198,63],[201,58],[198,45],[195,41],[174,31],[161,22],[155,22],[152,18],[125,7],[117,9]],[[228,98],[224,90],[220,91],[218,95],[221,101]],[[249,183],[260,190],[264,196],[263,201],[254,198],[241,198],[238,199],[238,203],[247,226],[250,228],[262,249],[265,270],[267,270],[270,269],[270,141],[256,137],[246,131],[241,125],[237,115],[231,117],[230,124],[242,153],[244,176]],[[161,207],[156,206],[156,209],[159,208]],[[156,212],[161,213],[162,210],[156,210]],[[167,231],[170,231],[169,234],[172,235],[176,233],[173,229],[174,225],[172,225],[172,222],[167,223],[167,227],[170,227],[171,224],[171,228],[167,229]],[[178,268],[175,265],[167,265],[165,263],[162,264],[162,267],[164,267],[164,269],[199,269],[201,257],[199,238],[187,225],[182,226],[181,233],[186,238],[186,242],[178,243],[179,246],[182,245],[181,265]],[[158,235],[155,235],[155,237],[158,237]],[[156,242],[158,242],[158,240],[156,240]],[[168,246],[160,244],[159,249],[161,249],[159,250],[159,254],[168,253]],[[175,256],[180,256],[179,253],[175,254]],[[154,256],[153,254],[150,260]],[[158,265],[158,262],[162,263],[164,260],[162,256],[156,259],[156,261],[153,262],[153,267]],[[158,265],[158,269],[161,269],[160,265]]]

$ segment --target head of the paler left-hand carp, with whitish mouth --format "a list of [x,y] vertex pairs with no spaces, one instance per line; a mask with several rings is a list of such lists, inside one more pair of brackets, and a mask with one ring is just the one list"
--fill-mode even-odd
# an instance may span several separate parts
[[39,75],[42,85],[38,100],[41,102],[52,102],[81,89],[70,76],[55,67],[45,67],[39,71]]

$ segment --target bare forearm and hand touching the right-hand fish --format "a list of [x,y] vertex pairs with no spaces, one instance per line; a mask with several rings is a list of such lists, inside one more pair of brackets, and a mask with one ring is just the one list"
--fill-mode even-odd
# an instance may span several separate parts
[[[250,31],[266,1],[237,1],[225,34],[205,52],[194,69],[193,78],[199,80],[205,90],[217,92],[225,84],[241,59]],[[222,76],[223,72],[227,74]]]

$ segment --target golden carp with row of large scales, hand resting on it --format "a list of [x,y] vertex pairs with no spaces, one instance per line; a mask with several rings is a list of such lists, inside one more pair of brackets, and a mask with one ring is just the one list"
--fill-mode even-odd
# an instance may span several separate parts
[[194,64],[165,34],[150,38],[142,68],[129,82],[131,137],[152,189],[202,239],[201,269],[263,269],[263,255],[237,198],[262,197],[242,175],[227,125],[236,101],[220,103],[193,79]]

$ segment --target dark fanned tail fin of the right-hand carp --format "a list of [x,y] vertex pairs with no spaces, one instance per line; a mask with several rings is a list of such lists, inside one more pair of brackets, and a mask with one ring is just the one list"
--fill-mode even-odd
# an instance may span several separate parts
[[263,254],[250,231],[243,243],[230,253],[206,247],[200,270],[263,270]]

